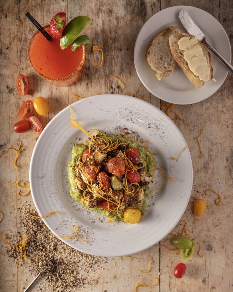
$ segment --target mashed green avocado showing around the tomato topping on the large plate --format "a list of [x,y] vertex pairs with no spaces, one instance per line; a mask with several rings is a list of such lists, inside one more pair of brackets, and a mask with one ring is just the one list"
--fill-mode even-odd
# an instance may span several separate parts
[[[155,159],[151,156],[151,154],[145,149],[143,146],[137,145],[133,140],[127,139],[125,140],[124,137],[121,135],[107,135],[112,142],[115,142],[118,140],[118,142],[126,142],[127,143],[127,148],[135,147],[137,148],[138,152],[140,153],[140,159],[146,161],[146,173],[152,172],[154,174],[154,165],[156,163]],[[73,147],[71,151],[71,156],[72,160],[68,164],[68,179],[70,183],[70,197],[72,199],[75,199],[76,201],[79,201],[81,203],[83,197],[82,193],[83,191],[78,189],[76,183],[75,183],[75,178],[76,178],[76,171],[73,169],[73,166],[78,164],[78,161],[81,160],[82,158],[82,153],[84,150],[88,149],[88,146],[83,145],[83,144],[77,144]],[[144,210],[146,208],[146,200],[150,194],[150,188],[148,186],[144,186],[144,198],[142,201],[139,202],[138,206],[142,206],[141,213],[144,213]],[[84,202],[82,203],[84,206],[87,207],[87,204]],[[89,208],[89,207],[87,207]],[[96,211],[97,213],[100,213],[104,216],[109,217],[110,215],[115,215],[117,217],[116,220],[123,221],[123,217],[120,217],[116,211],[107,211],[105,209],[102,209],[100,207],[95,207],[95,208],[89,208],[90,210]]]

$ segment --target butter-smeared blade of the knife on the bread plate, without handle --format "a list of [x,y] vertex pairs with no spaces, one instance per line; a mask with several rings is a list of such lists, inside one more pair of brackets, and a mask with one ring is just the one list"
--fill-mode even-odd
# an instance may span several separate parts
[[196,25],[192,18],[190,18],[188,12],[185,9],[182,9],[179,12],[178,17],[183,27],[187,30],[189,34],[196,36],[199,41],[202,41],[205,38],[204,33],[200,30],[200,28]]

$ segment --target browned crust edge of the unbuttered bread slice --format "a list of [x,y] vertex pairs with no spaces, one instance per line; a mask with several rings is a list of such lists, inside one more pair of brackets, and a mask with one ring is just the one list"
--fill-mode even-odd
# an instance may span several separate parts
[[[171,67],[170,67],[169,72],[166,72],[166,69],[163,70],[163,71],[162,71],[162,70],[159,71],[159,70],[156,70],[156,69],[154,68],[154,66],[152,65],[152,63],[150,62],[150,59],[149,59],[150,51],[151,51],[153,45],[155,44],[156,40],[157,40],[160,36],[162,36],[163,34],[165,34],[166,32],[168,32],[169,30],[174,31],[174,34],[180,34],[180,33],[181,33],[181,31],[180,31],[179,28],[177,28],[177,27],[169,26],[169,27],[165,28],[162,32],[160,32],[159,34],[157,34],[157,35],[153,38],[153,40],[152,40],[152,42],[151,42],[151,44],[150,44],[148,50],[146,51],[146,59],[147,59],[147,62],[148,62],[148,64],[151,66],[151,68],[152,68],[153,70],[156,71],[156,77],[158,78],[158,80],[161,80],[161,79],[163,79],[163,78],[166,78],[166,77],[170,76],[170,74],[174,71],[175,66],[176,66],[176,62],[174,61],[173,64],[171,64]],[[169,39],[168,39],[168,41],[169,41]],[[158,52],[158,55],[159,55],[159,54],[160,54],[160,53]],[[163,56],[163,55],[161,54],[161,56]],[[159,55],[159,57],[160,57],[160,55]],[[172,57],[172,55],[171,55],[171,57]]]

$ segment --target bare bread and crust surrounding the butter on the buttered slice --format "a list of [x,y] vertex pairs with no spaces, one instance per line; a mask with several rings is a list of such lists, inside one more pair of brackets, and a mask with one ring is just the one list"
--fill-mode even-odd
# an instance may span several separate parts
[[[169,37],[170,49],[171,49],[173,58],[176,60],[177,64],[181,67],[181,69],[183,70],[185,75],[188,77],[188,79],[192,82],[194,86],[200,88],[206,83],[206,81],[203,81],[198,76],[196,76],[190,70],[187,61],[184,59],[183,51],[179,49],[179,44],[178,44],[179,39],[181,39],[183,36],[188,36],[190,38],[194,37],[193,35],[187,34],[187,33],[172,34]],[[213,68],[211,67],[211,64],[210,64],[210,53],[200,41],[198,41],[198,44],[201,46],[204,57],[206,57],[207,59],[208,67],[210,69],[209,80],[211,81],[213,78]]]

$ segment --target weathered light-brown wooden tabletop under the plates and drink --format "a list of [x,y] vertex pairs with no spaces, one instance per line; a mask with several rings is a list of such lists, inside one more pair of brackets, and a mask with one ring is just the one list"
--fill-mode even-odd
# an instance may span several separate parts
[[[77,98],[68,94],[88,97],[103,93],[121,93],[121,87],[108,74],[120,76],[130,72],[126,77],[125,93],[143,95],[148,102],[159,107],[163,101],[150,94],[140,82],[133,62],[134,44],[143,24],[156,12],[175,5],[194,5],[212,14],[224,27],[231,44],[233,34],[233,2],[230,0],[212,1],[181,1],[181,0],[101,0],[101,1],[1,1],[1,208],[3,220],[0,223],[0,234],[12,232],[17,234],[19,216],[17,207],[31,199],[18,197],[17,189],[12,184],[16,180],[29,180],[29,163],[36,133],[27,131],[17,134],[13,124],[17,121],[17,113],[25,101],[15,89],[18,74],[24,74],[29,79],[30,93],[27,99],[37,96],[47,98],[50,112],[41,121],[46,125],[58,112]],[[41,25],[47,25],[52,15],[59,11],[67,13],[68,20],[77,15],[88,15],[92,21],[85,33],[91,36],[91,45],[104,47],[104,64],[99,69],[94,67],[100,62],[100,53],[93,53],[92,47],[87,49],[87,60],[84,75],[76,85],[70,87],[55,87],[37,76],[27,61],[27,45],[35,27],[25,17],[29,11]],[[122,292],[133,291],[138,278],[143,283],[152,284],[153,277],[158,277],[158,285],[147,288],[137,288],[137,291],[233,291],[232,282],[232,76],[230,73],[220,89],[206,100],[190,105],[177,105],[175,111],[185,121],[176,119],[174,122],[183,134],[193,161],[193,190],[188,207],[182,217],[187,220],[187,226],[192,231],[191,237],[197,248],[194,256],[186,260],[186,274],[182,279],[173,275],[174,267],[181,262],[180,255],[168,251],[163,246],[153,246],[138,253],[143,263],[123,257],[109,259],[104,270],[99,271],[100,281],[92,291]],[[110,83],[110,88],[107,84]],[[174,119],[171,114],[170,118]],[[200,138],[202,157],[193,139],[202,126],[207,123]],[[16,147],[22,140],[25,149],[18,159],[20,171],[14,168],[15,154],[6,147]],[[227,206],[216,206],[216,196],[206,189],[213,189],[223,198]],[[207,208],[204,215],[193,225],[194,215],[192,204],[196,198],[204,198]],[[183,223],[178,224],[174,233],[181,232]],[[170,236],[160,243],[169,244]],[[0,291],[22,291],[22,287],[32,280],[27,274],[27,267],[17,270],[5,253],[5,243],[1,244],[1,285]],[[197,249],[201,244],[201,254]],[[3,248],[4,247],[4,248]],[[148,274],[138,272],[146,270],[147,262],[152,256],[151,271]],[[115,265],[114,265],[115,263]],[[26,280],[25,280],[26,279]],[[37,285],[38,286],[38,285]],[[90,291],[84,288],[83,291]],[[36,286],[32,291],[36,291]]]

